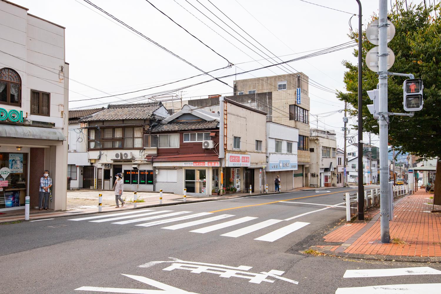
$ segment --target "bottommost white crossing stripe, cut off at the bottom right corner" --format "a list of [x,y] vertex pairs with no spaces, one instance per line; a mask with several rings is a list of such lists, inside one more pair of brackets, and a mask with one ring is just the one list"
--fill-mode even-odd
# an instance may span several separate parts
[[441,283],[400,284],[368,287],[338,288],[335,294],[426,294],[439,293]]

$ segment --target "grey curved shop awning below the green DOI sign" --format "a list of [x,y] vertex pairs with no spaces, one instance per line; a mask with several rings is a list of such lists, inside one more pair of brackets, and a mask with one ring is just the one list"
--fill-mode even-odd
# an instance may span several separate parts
[[9,124],[0,124],[0,137],[50,141],[66,140],[63,133],[58,129],[15,126]]

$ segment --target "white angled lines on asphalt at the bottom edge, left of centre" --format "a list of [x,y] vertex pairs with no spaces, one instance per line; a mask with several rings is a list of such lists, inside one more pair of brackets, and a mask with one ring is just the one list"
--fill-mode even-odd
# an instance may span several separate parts
[[147,290],[147,289],[129,289],[129,288],[110,288],[110,287],[89,287],[83,286],[75,290],[80,291],[97,291],[97,292],[112,292],[112,293],[131,293],[131,294],[197,294],[194,292],[188,292],[140,275],[125,275],[131,279],[135,279],[141,283],[159,288],[161,290]]

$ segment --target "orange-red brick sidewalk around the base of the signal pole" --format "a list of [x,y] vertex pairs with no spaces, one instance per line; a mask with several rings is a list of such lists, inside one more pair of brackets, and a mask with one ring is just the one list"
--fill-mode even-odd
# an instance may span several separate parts
[[[441,257],[441,214],[430,213],[433,194],[418,190],[395,202],[390,236],[407,244],[380,242],[380,214],[372,213],[367,223],[347,223],[327,234],[325,242],[342,242],[340,246],[317,246],[336,253],[381,254],[409,257]],[[441,210],[441,206],[435,206]]]

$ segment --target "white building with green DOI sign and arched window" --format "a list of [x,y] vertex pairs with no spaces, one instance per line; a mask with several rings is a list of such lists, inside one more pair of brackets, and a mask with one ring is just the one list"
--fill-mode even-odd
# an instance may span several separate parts
[[66,209],[69,64],[63,26],[0,0],[0,211],[38,206],[40,178],[52,178],[49,208]]

